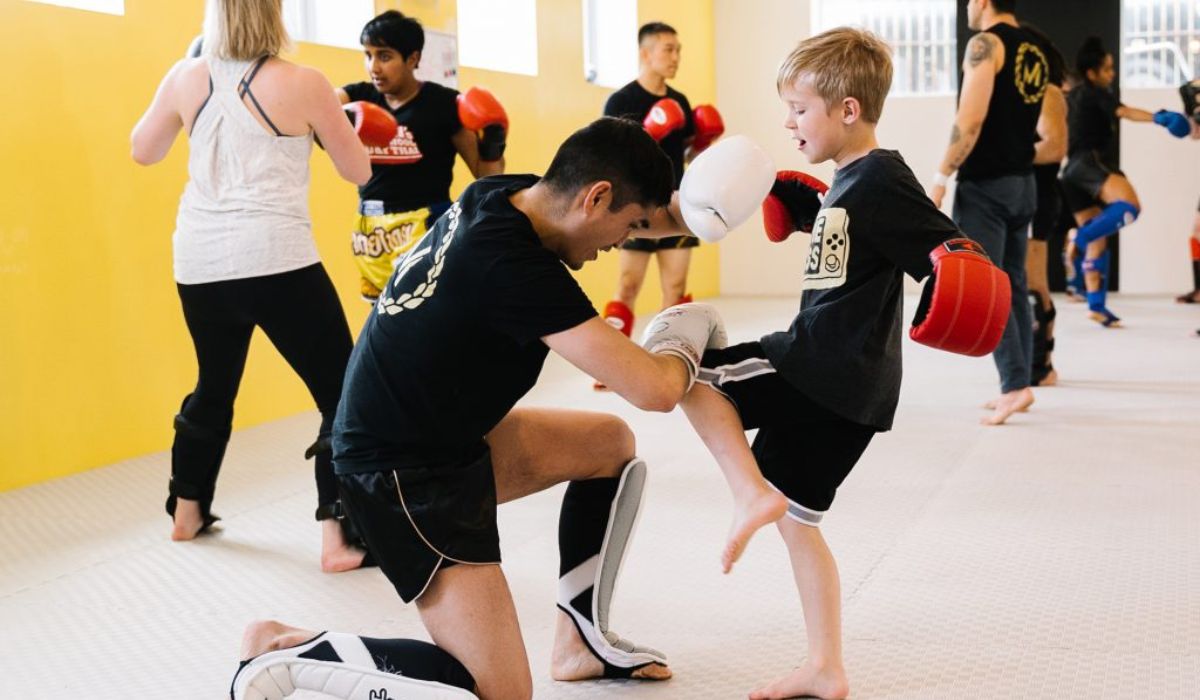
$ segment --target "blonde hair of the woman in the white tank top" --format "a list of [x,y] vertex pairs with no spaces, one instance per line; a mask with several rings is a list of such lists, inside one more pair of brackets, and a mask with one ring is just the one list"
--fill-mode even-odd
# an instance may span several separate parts
[[208,0],[204,53],[218,59],[251,61],[275,56],[290,40],[283,26],[283,0]]

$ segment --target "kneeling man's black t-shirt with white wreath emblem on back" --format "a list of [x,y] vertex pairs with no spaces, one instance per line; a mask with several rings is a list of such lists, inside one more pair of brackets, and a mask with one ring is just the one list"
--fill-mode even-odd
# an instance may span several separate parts
[[337,473],[473,459],[541,372],[546,335],[596,315],[509,197],[535,175],[475,181],[397,261],[346,370]]

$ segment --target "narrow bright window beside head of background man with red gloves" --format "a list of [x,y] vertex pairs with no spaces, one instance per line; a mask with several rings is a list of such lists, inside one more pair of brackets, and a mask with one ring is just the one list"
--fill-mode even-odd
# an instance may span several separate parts
[[604,88],[637,77],[637,0],[583,0],[583,77]]

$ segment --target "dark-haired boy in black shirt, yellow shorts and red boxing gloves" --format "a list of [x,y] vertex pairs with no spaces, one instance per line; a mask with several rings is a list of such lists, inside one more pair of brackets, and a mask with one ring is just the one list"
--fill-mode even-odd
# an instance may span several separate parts
[[389,145],[370,148],[372,175],[359,187],[352,235],[362,298],[374,301],[394,261],[450,207],[455,154],[476,178],[503,173],[504,133],[492,128],[480,140],[460,118],[457,90],[416,79],[425,47],[416,19],[389,10],[362,28],[360,41],[371,82],[344,85],[337,97],[343,104],[373,102],[400,126]]

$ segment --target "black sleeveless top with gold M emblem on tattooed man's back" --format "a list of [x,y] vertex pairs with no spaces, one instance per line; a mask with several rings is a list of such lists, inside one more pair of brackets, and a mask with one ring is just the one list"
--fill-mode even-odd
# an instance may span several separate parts
[[1033,143],[1050,65],[1033,35],[1009,24],[985,31],[1004,44],[1004,65],[988,103],[979,139],[959,169],[959,180],[985,180],[1033,172]]

